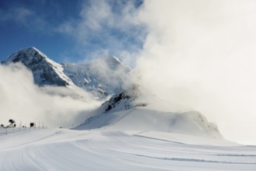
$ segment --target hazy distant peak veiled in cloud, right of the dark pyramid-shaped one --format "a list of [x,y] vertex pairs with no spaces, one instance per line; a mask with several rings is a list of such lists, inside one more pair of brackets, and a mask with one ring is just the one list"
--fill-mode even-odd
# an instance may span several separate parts
[[114,56],[106,56],[87,65],[63,64],[64,73],[76,86],[97,96],[113,95],[120,91],[131,68]]

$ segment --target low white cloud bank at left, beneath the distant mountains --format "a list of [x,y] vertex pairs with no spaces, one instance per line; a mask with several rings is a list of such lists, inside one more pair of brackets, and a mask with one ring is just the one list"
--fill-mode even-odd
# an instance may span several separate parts
[[39,88],[23,65],[0,65],[0,120],[23,125],[44,122],[45,126],[72,127],[81,124],[101,102],[82,89]]

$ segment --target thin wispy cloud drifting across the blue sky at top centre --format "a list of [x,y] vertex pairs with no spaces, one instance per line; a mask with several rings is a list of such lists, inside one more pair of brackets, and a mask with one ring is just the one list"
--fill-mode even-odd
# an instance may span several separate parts
[[69,19],[57,31],[74,37],[87,59],[106,54],[128,56],[139,51],[131,39],[141,41],[145,36],[136,12],[132,1],[115,9],[110,1],[89,1],[82,5],[79,19]]

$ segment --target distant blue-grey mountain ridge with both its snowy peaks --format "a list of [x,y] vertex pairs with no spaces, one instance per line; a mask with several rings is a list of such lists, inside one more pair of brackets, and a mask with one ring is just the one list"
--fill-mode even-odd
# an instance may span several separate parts
[[131,68],[114,56],[106,56],[91,64],[58,64],[35,47],[11,54],[2,64],[21,62],[33,73],[38,86],[79,86],[102,98],[117,93]]

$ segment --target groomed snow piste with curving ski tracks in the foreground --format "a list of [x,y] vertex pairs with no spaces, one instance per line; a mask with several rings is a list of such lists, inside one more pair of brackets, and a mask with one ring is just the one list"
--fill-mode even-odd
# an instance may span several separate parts
[[0,170],[256,170],[256,146],[191,145],[139,131],[32,130],[0,135]]

